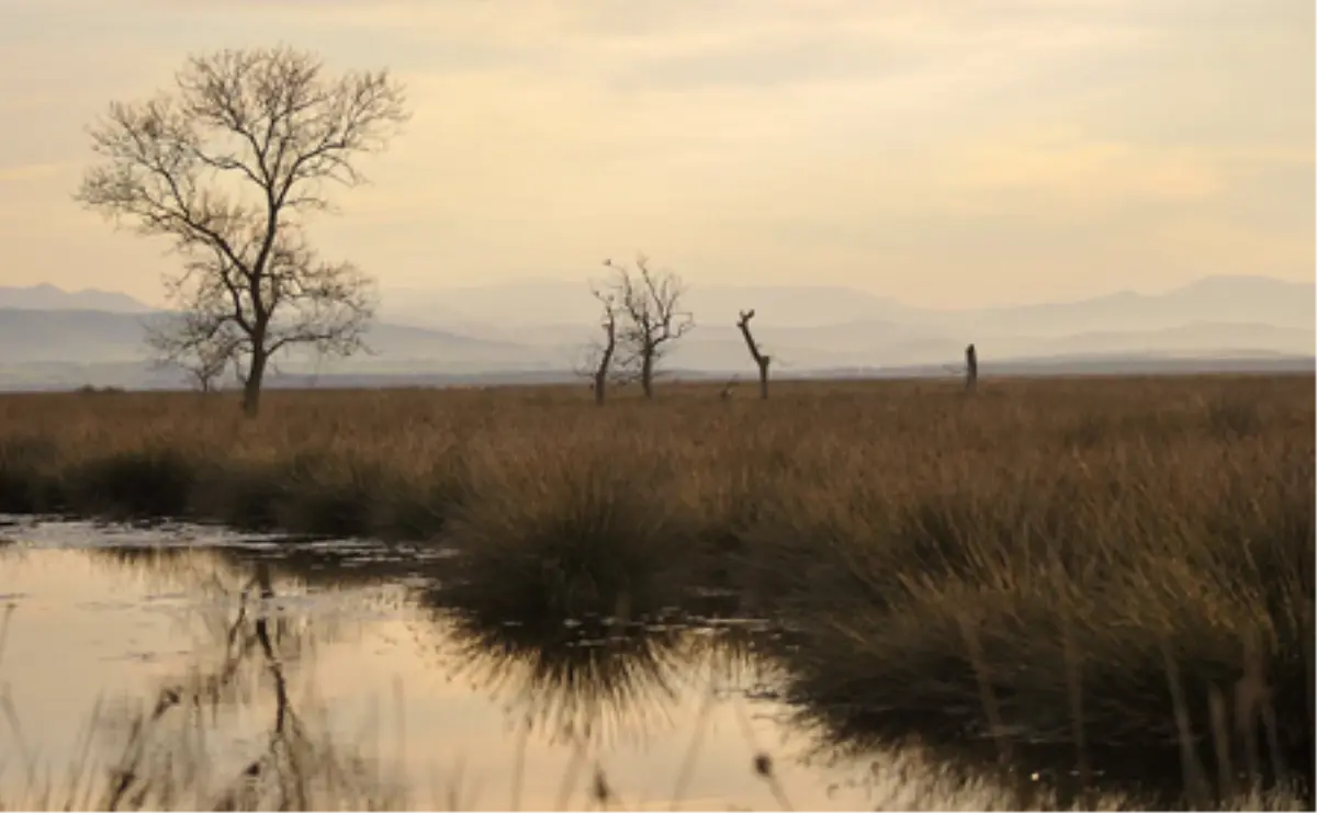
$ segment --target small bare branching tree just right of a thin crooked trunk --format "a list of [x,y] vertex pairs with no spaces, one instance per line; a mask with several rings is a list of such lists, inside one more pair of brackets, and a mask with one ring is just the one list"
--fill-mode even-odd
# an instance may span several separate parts
[[653,380],[662,357],[695,326],[689,312],[681,309],[686,285],[672,271],[655,271],[644,255],[636,270],[603,260],[615,270],[610,292],[615,297],[623,322],[618,326],[619,367],[640,380],[647,399],[653,397]]

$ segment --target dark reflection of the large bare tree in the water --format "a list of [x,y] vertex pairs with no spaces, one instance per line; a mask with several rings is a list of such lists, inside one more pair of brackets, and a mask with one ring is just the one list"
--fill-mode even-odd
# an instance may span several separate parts
[[[295,700],[290,679],[325,630],[307,614],[281,612],[269,564],[224,568],[211,558],[162,549],[105,556],[180,579],[209,601],[198,609],[209,638],[200,662],[166,681],[149,702],[99,714],[96,734],[113,747],[103,810],[215,812],[391,809],[378,762],[345,749],[311,699]],[[319,620],[319,618],[317,618]],[[225,747],[227,746],[227,747]]]

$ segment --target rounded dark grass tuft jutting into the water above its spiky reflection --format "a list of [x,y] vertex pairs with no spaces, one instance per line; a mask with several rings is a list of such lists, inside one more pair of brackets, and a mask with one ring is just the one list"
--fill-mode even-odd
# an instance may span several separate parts
[[[448,520],[458,587],[508,618],[645,616],[674,605],[702,566],[672,475],[607,446],[486,450]],[[545,476],[548,474],[548,476]]]

